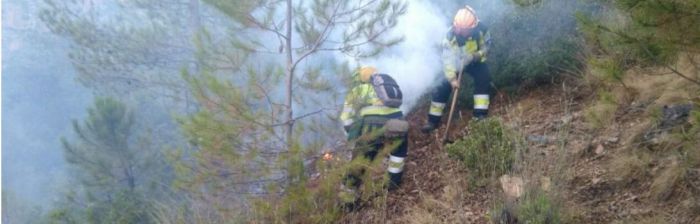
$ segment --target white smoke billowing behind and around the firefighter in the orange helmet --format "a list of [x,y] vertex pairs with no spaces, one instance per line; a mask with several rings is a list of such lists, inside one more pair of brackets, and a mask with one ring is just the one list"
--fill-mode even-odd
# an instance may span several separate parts
[[[375,66],[399,82],[404,93],[404,112],[417,106],[421,96],[431,91],[442,76],[439,45],[452,16],[464,5],[474,8],[481,23],[491,33],[493,45],[489,52],[489,66],[497,86],[527,79],[521,75],[523,71],[505,68],[523,58],[546,56],[545,50],[561,47],[555,46],[558,38],[568,38],[567,35],[571,35],[576,27],[574,12],[585,8],[585,3],[569,0],[540,1],[522,7],[509,0],[409,1],[406,14],[388,34],[402,35],[404,42],[378,58],[358,62],[359,65]],[[540,64],[528,66],[546,67]]]

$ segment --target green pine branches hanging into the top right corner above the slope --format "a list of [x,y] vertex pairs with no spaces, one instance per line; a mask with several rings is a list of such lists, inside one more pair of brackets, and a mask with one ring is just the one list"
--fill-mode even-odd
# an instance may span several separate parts
[[[679,57],[700,65],[695,60],[700,52],[698,1],[617,0],[602,5],[605,10],[588,17],[579,15],[579,21],[603,67],[619,71],[635,65],[660,66],[700,85],[700,75],[675,68]],[[601,63],[596,64],[600,67]],[[621,79],[618,73],[610,75]]]

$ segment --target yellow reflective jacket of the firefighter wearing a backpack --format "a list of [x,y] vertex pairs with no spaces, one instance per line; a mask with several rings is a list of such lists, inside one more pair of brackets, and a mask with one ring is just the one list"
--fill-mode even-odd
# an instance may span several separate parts
[[363,116],[387,115],[399,111],[401,111],[399,108],[384,106],[371,84],[361,83],[352,88],[345,96],[340,120],[343,122],[343,126],[350,126]]

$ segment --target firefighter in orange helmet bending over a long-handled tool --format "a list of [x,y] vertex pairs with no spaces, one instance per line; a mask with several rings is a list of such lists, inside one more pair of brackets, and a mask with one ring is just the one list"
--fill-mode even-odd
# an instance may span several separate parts
[[[460,87],[457,77],[464,73],[474,80],[473,119],[481,120],[488,116],[491,75],[485,62],[490,46],[491,34],[479,21],[474,9],[465,6],[458,10],[442,42],[445,76],[433,92],[428,123],[421,128],[423,132],[430,132],[439,126],[450,94]],[[460,70],[462,74],[457,74]]]

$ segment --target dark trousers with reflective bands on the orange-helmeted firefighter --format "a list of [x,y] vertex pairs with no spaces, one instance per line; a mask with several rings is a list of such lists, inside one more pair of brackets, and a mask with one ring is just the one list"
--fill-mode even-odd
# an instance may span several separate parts
[[[491,74],[486,63],[472,63],[468,66],[464,66],[463,72],[468,73],[474,79],[474,95],[487,95],[491,90]],[[458,74],[459,75],[459,74]],[[462,78],[462,83],[464,83],[464,78]],[[447,79],[442,76],[440,84],[437,86],[433,92],[433,98],[431,102],[431,113],[428,114],[428,121],[433,124],[440,123],[442,118],[442,113],[447,105],[447,100],[452,94],[452,86]],[[488,100],[487,107],[488,107]],[[438,105],[437,107],[434,105]],[[475,109],[473,111],[475,117],[486,117],[488,115],[488,109],[477,108],[475,102]]]

